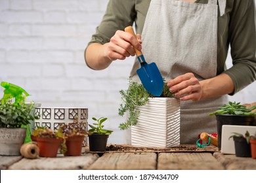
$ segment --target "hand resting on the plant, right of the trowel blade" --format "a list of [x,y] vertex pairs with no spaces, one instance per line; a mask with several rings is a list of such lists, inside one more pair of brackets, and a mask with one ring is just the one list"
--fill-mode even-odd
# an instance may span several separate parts
[[181,101],[199,101],[202,97],[202,86],[193,73],[177,76],[169,80],[167,86],[170,92],[175,93],[175,97],[179,97]]

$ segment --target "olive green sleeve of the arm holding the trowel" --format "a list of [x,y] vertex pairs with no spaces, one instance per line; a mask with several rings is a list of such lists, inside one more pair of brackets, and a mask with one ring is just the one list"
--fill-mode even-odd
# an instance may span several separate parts
[[110,0],[106,12],[96,27],[96,33],[89,44],[110,42],[117,30],[123,30],[128,25],[133,25],[136,17],[135,0]]

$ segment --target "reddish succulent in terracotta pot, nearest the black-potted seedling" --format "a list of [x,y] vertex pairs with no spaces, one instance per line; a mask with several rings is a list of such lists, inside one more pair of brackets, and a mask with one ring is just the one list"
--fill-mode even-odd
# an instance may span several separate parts
[[75,118],[73,123],[62,124],[59,130],[62,131],[66,142],[66,152],[64,152],[64,155],[80,156],[83,141],[87,133],[85,123],[82,121],[79,122]]

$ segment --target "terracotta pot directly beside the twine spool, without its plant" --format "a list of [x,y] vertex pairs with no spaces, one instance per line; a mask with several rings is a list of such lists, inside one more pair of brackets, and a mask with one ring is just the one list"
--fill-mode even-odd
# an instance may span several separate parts
[[54,158],[57,156],[60,139],[37,137],[37,146],[39,147],[39,156]]

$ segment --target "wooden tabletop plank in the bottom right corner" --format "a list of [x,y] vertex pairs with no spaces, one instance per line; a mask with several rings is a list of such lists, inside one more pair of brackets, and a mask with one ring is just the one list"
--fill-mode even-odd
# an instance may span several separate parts
[[236,157],[234,154],[215,152],[213,156],[220,161],[227,170],[256,170],[256,159]]

